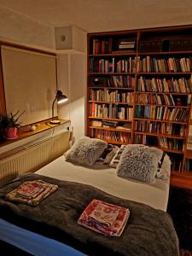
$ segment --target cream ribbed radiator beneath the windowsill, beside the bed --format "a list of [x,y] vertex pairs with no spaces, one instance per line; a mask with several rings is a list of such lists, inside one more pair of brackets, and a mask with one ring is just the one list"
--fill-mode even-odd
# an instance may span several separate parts
[[69,147],[69,132],[61,132],[53,137],[23,147],[16,154],[0,160],[0,186],[23,172],[36,172],[61,156]]

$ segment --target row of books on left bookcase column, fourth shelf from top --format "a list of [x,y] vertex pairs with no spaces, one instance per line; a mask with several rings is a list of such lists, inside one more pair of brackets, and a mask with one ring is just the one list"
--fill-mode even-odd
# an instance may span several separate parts
[[97,102],[123,102],[132,103],[133,102],[132,92],[119,92],[119,90],[90,90],[90,101]]

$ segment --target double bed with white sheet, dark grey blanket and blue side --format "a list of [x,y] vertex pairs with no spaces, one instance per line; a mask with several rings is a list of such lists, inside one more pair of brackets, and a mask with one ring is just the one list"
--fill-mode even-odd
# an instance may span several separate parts
[[[8,184],[9,188],[3,186],[5,188],[4,191],[8,192],[10,189],[15,188],[15,185],[23,180],[37,177],[50,183],[58,183],[61,189],[66,188],[66,193],[69,194],[62,200],[67,201],[67,207],[71,204],[70,206],[73,208],[74,201],[79,198],[82,203],[79,206],[78,202],[77,206],[75,205],[74,207],[77,211],[73,222],[69,222],[67,224],[68,227],[64,225],[64,230],[62,230],[60,229],[60,217],[57,215],[55,217],[58,221],[55,220],[48,226],[44,223],[44,220],[39,219],[38,215],[37,218],[26,218],[26,216],[23,216],[23,212],[28,215],[32,214],[32,207],[25,206],[23,209],[22,207],[17,209],[13,203],[10,203],[12,206],[14,205],[13,208],[12,206],[9,208],[8,204],[5,207],[4,202],[2,203],[3,190],[1,190],[1,240],[7,241],[34,255],[98,255],[98,253],[110,255],[139,255],[141,253],[141,255],[160,255],[162,252],[167,253],[167,255],[178,255],[177,234],[172,225],[172,219],[166,213],[169,179],[165,181],[155,178],[154,183],[147,184],[133,179],[118,177],[116,169],[106,165],[74,165],[67,162],[64,156],[61,155],[48,165],[40,168],[35,174],[21,174],[14,182]],[[56,193],[53,195],[55,196]],[[57,206],[59,212],[58,206],[60,206],[60,202],[56,202],[57,199],[54,196],[49,196],[49,206],[52,207],[52,210]],[[63,192],[59,195],[60,200],[62,196]],[[129,229],[134,228],[132,234],[135,235],[132,236],[127,228],[128,231],[125,230],[122,236],[123,240],[125,240],[125,236],[128,237],[128,245],[126,240],[121,244],[120,239],[110,240],[110,238],[100,234],[95,235],[92,230],[86,230],[76,224],[77,216],[80,215],[80,212],[83,211],[84,206],[88,204],[90,199],[95,196],[103,201],[126,205],[131,209],[131,214],[134,212],[131,218],[128,219],[127,227]],[[69,201],[68,198],[70,198]],[[43,207],[44,212],[47,210],[44,205],[47,200],[39,204],[39,206]],[[48,212],[51,212],[51,210],[49,209]],[[15,213],[16,215],[14,215]],[[52,212],[51,214],[53,218],[55,213]],[[156,221],[156,218],[160,219]],[[141,219],[143,219],[142,223],[140,223]],[[42,224],[40,225],[41,222]],[[144,223],[146,222],[149,223],[149,226],[148,224],[145,226]],[[139,228],[139,225],[143,230],[142,238],[138,235],[140,231],[137,233],[137,230],[141,228]],[[150,230],[151,227],[152,230]],[[52,229],[54,230],[53,232]],[[69,232],[65,229],[68,229]],[[149,234],[151,237],[148,238]],[[133,237],[135,238],[133,239]],[[140,240],[143,240],[141,244],[139,244]],[[160,252],[162,244],[163,251]]]

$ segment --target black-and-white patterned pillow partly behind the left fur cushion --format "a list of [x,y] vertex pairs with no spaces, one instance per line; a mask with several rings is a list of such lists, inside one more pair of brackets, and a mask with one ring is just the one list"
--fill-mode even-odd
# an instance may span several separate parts
[[114,146],[112,144],[108,144],[108,148],[105,148],[102,155],[96,160],[96,164],[108,165],[113,159],[118,149],[119,147]]

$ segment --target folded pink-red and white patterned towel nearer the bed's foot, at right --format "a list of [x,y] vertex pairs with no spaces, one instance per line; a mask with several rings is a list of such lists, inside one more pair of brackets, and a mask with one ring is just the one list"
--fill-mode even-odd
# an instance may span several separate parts
[[94,199],[84,209],[78,224],[106,236],[120,236],[129,216],[128,208]]

